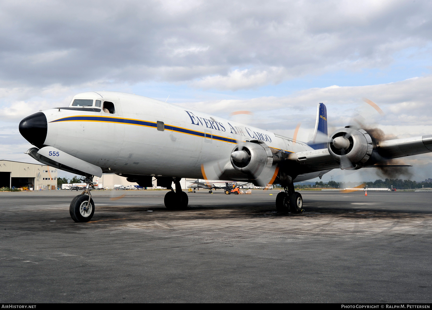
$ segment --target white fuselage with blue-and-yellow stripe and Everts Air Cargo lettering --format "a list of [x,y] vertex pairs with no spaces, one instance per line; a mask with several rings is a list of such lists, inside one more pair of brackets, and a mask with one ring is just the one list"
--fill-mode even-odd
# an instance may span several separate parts
[[[115,113],[86,108],[43,111],[48,121],[44,144],[104,172],[203,178],[201,164],[229,158],[238,142],[253,139],[282,152],[311,150],[303,142],[294,143],[267,130],[138,95],[86,92],[74,98],[113,102]],[[163,131],[157,129],[158,121],[164,123]],[[305,174],[295,181],[318,174]]]

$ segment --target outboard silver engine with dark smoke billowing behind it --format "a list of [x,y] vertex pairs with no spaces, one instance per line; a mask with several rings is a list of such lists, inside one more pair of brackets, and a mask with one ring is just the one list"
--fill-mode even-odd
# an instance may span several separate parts
[[340,163],[341,169],[355,170],[362,168],[370,158],[373,143],[371,136],[365,130],[345,127],[332,133],[327,149]]

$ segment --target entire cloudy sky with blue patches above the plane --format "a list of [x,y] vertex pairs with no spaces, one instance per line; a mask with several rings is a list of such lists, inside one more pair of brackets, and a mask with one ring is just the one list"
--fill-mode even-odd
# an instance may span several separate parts
[[389,136],[432,134],[431,20],[418,0],[3,0],[0,157],[32,162],[19,120],[87,90],[248,110],[289,136],[301,122],[304,140],[318,102],[334,129],[359,114]]

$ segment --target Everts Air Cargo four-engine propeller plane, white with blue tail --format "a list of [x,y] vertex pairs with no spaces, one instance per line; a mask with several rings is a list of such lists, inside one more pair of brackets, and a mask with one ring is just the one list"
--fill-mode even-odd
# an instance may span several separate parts
[[[70,203],[76,222],[89,221],[95,205],[94,176],[111,172],[142,187],[170,188],[168,209],[184,209],[181,178],[278,183],[280,212],[301,212],[302,195],[293,182],[321,177],[331,169],[359,169],[386,160],[432,152],[432,135],[379,141],[371,130],[345,127],[326,143],[327,111],[318,104],[314,136],[308,143],[235,123],[175,104],[122,92],[84,92],[68,107],[25,117],[19,132],[35,148],[27,153],[43,164],[83,175],[83,194]],[[95,134],[97,133],[97,134]],[[175,190],[172,183],[175,184]]]

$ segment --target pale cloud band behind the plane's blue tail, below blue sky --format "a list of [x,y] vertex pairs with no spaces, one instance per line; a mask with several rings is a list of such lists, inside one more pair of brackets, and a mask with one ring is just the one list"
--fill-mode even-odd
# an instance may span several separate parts
[[[283,97],[260,97],[183,103],[200,111],[229,117],[233,107],[254,113],[257,127],[291,135],[298,122],[302,129],[314,127],[317,104],[327,106],[329,131],[361,120],[394,136],[432,134],[430,110],[432,76],[416,77],[404,81],[366,86],[337,86],[312,88]],[[384,111],[381,116],[362,98],[368,98]],[[307,139],[305,133],[303,139]]]

